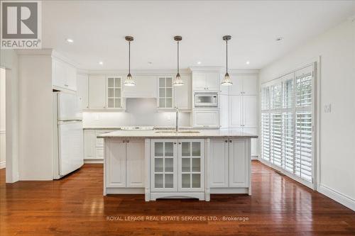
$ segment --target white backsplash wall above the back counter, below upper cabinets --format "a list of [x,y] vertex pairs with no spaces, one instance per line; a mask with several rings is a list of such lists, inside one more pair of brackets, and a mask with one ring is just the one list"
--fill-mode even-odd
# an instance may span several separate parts
[[[175,112],[156,111],[156,99],[127,99],[126,112],[84,112],[84,128],[107,128],[127,125],[175,127]],[[179,125],[190,126],[190,113],[179,113]]]

